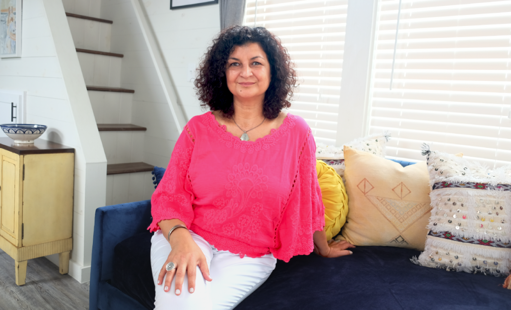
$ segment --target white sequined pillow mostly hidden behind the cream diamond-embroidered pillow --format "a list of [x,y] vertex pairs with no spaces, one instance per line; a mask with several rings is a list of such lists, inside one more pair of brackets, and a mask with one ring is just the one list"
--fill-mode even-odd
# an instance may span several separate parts
[[[359,151],[369,152],[379,157],[385,157],[385,144],[390,139],[388,132],[370,135],[364,138],[345,143],[351,148]],[[316,143],[316,159],[322,160],[335,169],[344,181],[344,151],[343,146],[328,146],[324,143]]]

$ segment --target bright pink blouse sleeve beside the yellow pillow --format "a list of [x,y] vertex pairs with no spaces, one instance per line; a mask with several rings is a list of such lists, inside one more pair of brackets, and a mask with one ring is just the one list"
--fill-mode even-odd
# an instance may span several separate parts
[[280,225],[275,232],[275,247],[270,252],[286,262],[295,255],[314,249],[312,235],[324,227],[324,206],[316,172],[316,144],[307,131],[301,144],[295,180]]

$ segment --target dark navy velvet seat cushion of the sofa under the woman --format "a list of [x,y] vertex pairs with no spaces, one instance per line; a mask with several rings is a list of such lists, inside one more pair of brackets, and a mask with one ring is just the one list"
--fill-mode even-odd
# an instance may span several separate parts
[[[151,233],[115,247],[112,285],[147,309],[154,308]],[[315,254],[278,261],[268,280],[236,310],[263,309],[505,309],[511,291],[502,278],[446,273],[410,262],[420,252],[357,247],[353,255]],[[129,272],[127,272],[129,271]]]

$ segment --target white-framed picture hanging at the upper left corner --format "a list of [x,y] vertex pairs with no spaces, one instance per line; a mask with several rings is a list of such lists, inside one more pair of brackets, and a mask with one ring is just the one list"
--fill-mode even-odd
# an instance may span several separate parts
[[0,0],[0,58],[21,57],[21,0]]

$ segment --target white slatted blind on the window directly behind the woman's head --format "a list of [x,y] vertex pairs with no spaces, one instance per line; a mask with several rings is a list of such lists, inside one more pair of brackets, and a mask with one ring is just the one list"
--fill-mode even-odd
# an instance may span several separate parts
[[247,0],[244,21],[282,40],[299,77],[289,112],[303,117],[316,141],[327,144],[335,144],[337,130],[347,2]]

